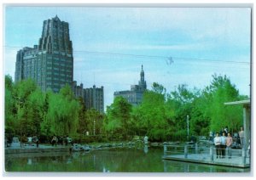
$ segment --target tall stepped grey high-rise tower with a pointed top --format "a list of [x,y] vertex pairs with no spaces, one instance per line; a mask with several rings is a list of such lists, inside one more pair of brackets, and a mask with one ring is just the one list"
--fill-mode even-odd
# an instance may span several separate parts
[[34,48],[23,48],[16,56],[15,82],[32,78],[43,91],[55,93],[73,82],[73,48],[68,23],[57,15],[44,20],[42,37]]

